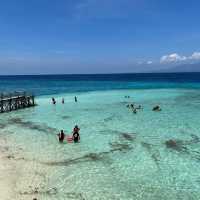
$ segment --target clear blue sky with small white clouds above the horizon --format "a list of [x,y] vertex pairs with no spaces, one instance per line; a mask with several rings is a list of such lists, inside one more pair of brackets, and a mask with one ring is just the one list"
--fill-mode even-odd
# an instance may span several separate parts
[[200,61],[198,0],[0,0],[0,74],[143,72]]

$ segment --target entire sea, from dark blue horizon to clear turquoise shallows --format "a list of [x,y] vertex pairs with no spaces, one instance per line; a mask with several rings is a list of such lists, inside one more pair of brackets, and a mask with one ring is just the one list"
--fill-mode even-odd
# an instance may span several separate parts
[[[0,114],[16,199],[200,199],[200,73],[0,76],[22,90],[38,106]],[[60,144],[76,124],[80,143]]]

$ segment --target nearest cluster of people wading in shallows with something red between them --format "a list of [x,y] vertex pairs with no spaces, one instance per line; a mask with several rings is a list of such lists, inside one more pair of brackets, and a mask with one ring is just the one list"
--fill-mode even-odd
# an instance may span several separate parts
[[72,136],[71,137],[67,137],[66,138],[66,135],[64,133],[63,130],[60,131],[60,133],[58,133],[58,140],[60,143],[63,143],[65,138],[67,141],[70,141],[70,142],[74,142],[74,143],[77,143],[80,141],[80,134],[79,134],[79,131],[80,131],[80,128],[78,127],[78,125],[76,125],[72,131]]

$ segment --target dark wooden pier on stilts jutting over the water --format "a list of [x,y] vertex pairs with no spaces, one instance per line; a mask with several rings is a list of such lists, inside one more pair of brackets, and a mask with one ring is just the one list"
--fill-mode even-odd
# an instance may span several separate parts
[[0,113],[35,106],[35,97],[27,92],[0,93]]

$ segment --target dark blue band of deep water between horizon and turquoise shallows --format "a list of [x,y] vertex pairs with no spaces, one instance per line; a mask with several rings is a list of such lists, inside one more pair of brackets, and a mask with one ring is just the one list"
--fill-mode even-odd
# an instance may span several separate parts
[[35,95],[116,89],[200,88],[200,73],[0,76],[0,91]]

